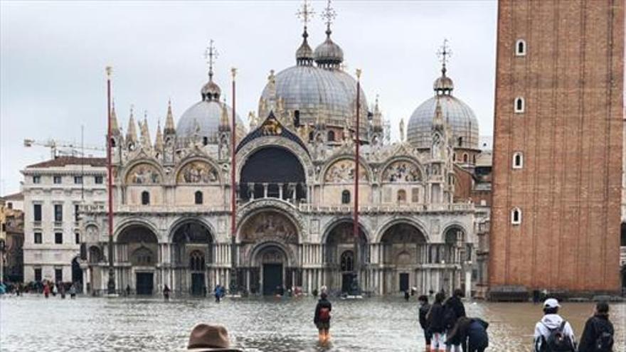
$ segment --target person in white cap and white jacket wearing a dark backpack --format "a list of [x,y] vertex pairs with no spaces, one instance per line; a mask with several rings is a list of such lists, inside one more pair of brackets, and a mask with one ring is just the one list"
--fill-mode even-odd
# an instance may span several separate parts
[[576,351],[572,326],[558,315],[560,305],[554,298],[543,302],[543,318],[535,325],[534,351]]

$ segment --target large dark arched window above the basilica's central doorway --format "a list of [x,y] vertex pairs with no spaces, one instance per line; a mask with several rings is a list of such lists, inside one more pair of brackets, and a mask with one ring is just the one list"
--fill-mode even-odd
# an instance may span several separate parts
[[243,164],[240,198],[281,198],[298,201],[307,198],[304,167],[287,149],[270,146],[255,151]]

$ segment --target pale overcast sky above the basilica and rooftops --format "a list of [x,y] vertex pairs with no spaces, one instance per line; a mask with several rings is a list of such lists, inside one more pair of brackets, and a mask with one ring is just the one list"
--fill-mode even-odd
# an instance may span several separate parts
[[[237,111],[256,110],[267,75],[295,65],[301,1],[27,1],[0,2],[0,194],[19,191],[24,166],[48,159],[23,139],[103,145],[106,133],[105,66],[112,65],[117,116],[124,129],[130,105],[147,110],[151,135],[164,122],[171,98],[177,120],[200,100],[206,82],[204,50],[213,38],[220,56],[216,82],[230,92],[238,68]],[[309,43],[324,40],[319,14]],[[333,40],[347,71],[363,70],[368,102],[380,95],[392,140],[398,122],[433,95],[440,74],[435,53],[444,38],[452,58],[455,96],[491,135],[497,3],[495,1],[334,1]],[[230,102],[230,94],[226,94]]]

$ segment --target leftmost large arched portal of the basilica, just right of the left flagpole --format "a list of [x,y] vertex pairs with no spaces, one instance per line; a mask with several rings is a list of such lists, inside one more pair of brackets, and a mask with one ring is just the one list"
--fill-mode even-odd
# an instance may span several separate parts
[[154,294],[158,287],[157,235],[145,225],[124,228],[116,243],[116,260],[122,265],[118,279],[120,288],[130,287],[136,294]]

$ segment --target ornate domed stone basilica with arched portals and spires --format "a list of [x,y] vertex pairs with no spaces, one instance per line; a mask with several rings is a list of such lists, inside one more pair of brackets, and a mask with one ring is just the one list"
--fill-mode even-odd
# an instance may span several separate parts
[[[236,116],[235,131],[232,107],[213,81],[212,47],[201,99],[177,122],[167,106],[154,140],[147,120],[137,123],[132,113],[122,134],[113,111],[118,290],[156,294],[167,284],[186,295],[222,284],[244,294],[273,294],[281,286],[312,292],[324,285],[348,292],[355,278],[371,294],[477,289],[487,267],[478,250],[479,228],[489,221],[489,209],[471,195],[480,179],[477,164],[485,158],[477,118],[453,95],[446,47],[433,96],[410,115],[406,138],[391,144],[378,101],[368,105],[356,78],[342,68],[331,17],[314,50],[304,27],[295,65],[270,72],[257,114],[250,113],[246,124]],[[403,129],[400,123],[401,136]],[[82,224],[86,284],[106,292],[105,204],[84,205]]]

